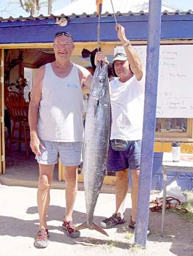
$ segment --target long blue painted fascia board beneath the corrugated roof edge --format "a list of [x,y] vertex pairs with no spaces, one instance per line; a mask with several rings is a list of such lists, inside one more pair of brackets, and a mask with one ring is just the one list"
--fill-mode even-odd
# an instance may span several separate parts
[[[126,27],[129,39],[147,39],[147,15],[118,16],[117,20]],[[58,26],[55,18],[0,22],[0,44],[53,42],[56,31],[69,31],[75,42],[96,42],[97,26],[97,17],[69,18],[65,27]],[[101,41],[118,41],[112,16],[102,17],[100,27]],[[193,15],[162,15],[161,31],[161,39],[193,39]]]

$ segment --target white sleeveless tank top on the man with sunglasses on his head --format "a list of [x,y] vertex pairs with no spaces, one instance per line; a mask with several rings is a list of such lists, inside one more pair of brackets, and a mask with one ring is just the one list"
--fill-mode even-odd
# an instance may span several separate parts
[[66,78],[58,78],[50,63],[45,65],[38,134],[42,140],[83,141],[83,94],[75,64]]

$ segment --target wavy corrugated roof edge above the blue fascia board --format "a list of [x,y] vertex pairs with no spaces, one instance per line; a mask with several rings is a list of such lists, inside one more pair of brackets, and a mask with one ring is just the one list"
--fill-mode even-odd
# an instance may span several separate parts
[[[181,12],[179,10],[176,10],[175,12],[168,12],[167,10],[165,10],[164,12],[162,12],[162,15],[189,15],[189,14],[193,14],[192,10],[188,10],[187,12]],[[121,13],[121,12],[116,12],[116,16],[132,16],[132,15],[148,15],[148,12],[126,12],[126,13]],[[32,16],[30,15],[29,17],[23,17],[23,16],[19,16],[18,18],[13,18],[12,16],[10,16],[9,18],[2,18],[0,17],[0,22],[8,22],[8,21],[15,21],[15,20],[20,20],[20,21],[25,21],[25,20],[46,20],[46,19],[50,19],[50,18],[93,18],[96,17],[97,13],[94,12],[91,15],[88,15],[86,12],[83,12],[83,14],[81,15],[76,15],[75,13],[72,13],[72,15],[39,15],[39,16]],[[110,12],[105,12],[105,14],[102,15],[102,17],[108,17],[108,16],[113,16],[112,13]]]

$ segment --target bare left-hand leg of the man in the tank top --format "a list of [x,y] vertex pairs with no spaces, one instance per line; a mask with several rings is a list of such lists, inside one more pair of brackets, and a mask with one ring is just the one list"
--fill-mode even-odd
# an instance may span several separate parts
[[50,186],[53,181],[54,165],[39,164],[37,206],[39,212],[39,230],[47,228],[46,214],[50,203]]

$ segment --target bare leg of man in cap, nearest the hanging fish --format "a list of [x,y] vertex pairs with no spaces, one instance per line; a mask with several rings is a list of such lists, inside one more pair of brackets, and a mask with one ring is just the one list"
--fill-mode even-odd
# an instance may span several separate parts
[[116,172],[116,213],[121,218],[124,217],[124,203],[128,192],[129,170]]

